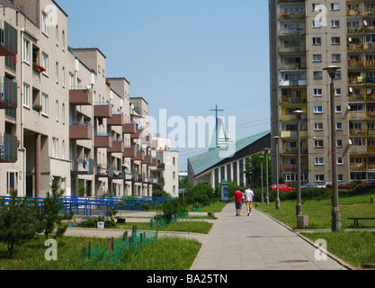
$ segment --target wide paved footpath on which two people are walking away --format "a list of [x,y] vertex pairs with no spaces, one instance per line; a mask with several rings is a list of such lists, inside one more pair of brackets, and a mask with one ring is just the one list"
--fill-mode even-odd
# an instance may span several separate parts
[[215,216],[192,270],[347,270],[334,258],[316,259],[316,247],[261,211],[237,217],[228,203]]

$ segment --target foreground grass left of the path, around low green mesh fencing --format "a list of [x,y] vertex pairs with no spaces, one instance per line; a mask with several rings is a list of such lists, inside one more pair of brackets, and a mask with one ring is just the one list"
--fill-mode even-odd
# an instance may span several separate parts
[[0,270],[188,270],[201,248],[196,240],[159,238],[134,254],[122,252],[117,266],[93,266],[84,265],[81,259],[83,243],[89,242],[93,247],[107,247],[106,238],[58,238],[58,260],[47,261],[43,237],[15,247],[13,259],[5,256],[6,246],[0,243]]

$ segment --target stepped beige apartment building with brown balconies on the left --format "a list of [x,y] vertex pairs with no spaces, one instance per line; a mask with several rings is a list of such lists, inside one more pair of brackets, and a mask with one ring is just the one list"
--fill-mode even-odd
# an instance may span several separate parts
[[67,45],[53,0],[4,2],[0,15],[0,195],[150,196],[158,179],[148,103],[109,77],[100,49]]

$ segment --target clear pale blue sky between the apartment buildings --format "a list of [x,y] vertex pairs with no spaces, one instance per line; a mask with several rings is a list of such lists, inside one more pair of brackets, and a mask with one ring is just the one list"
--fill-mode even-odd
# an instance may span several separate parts
[[208,125],[190,134],[189,118],[212,120],[216,105],[233,139],[270,129],[268,1],[57,3],[68,15],[68,45],[100,49],[107,76],[125,77],[130,97],[147,101],[153,131],[180,152],[180,171],[213,136]]

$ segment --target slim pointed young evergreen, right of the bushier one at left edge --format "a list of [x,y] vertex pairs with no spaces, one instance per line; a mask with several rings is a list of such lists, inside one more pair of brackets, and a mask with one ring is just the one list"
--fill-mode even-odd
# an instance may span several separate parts
[[62,220],[72,219],[73,214],[60,215],[60,211],[64,209],[62,205],[61,196],[65,193],[64,190],[58,192],[59,185],[55,182],[51,185],[52,193],[47,193],[43,199],[43,207],[40,209],[38,220],[40,222],[40,232],[44,232],[46,239],[49,235],[53,238],[58,238],[64,235],[67,230],[67,225],[62,223]]

